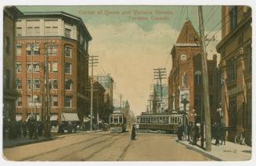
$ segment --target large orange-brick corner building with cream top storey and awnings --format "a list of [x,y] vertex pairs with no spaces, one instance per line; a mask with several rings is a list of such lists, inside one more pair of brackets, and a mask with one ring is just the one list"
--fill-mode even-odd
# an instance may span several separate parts
[[17,115],[25,120],[37,110],[38,118],[45,119],[49,71],[51,120],[73,113],[82,121],[89,108],[85,87],[92,37],[81,18],[66,12],[24,12],[16,22],[16,39]]

